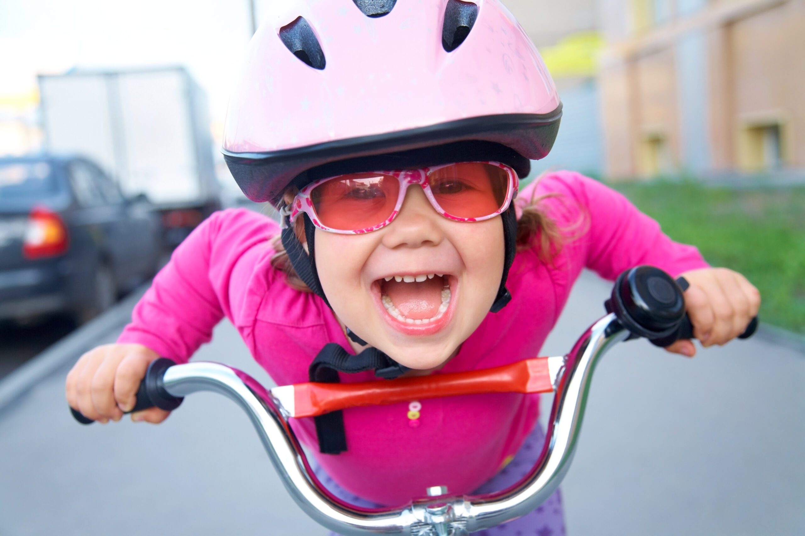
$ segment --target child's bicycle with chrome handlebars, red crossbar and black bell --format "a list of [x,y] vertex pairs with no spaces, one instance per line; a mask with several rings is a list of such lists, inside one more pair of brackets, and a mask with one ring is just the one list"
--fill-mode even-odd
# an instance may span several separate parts
[[[658,268],[632,268],[617,278],[605,302],[607,314],[581,335],[568,354],[488,370],[368,383],[300,383],[268,390],[248,374],[219,363],[175,365],[159,358],[149,366],[132,411],[153,406],[172,411],[184,396],[218,392],[246,411],[283,485],[320,525],[344,536],[464,536],[531,512],[559,487],[576,450],[592,372],[603,354],[618,342],[635,338],[668,346],[693,337],[685,314],[685,288],[685,280],[674,280]],[[755,317],[740,338],[751,337],[757,326]],[[518,484],[489,495],[456,497],[435,485],[403,507],[350,505],[320,484],[288,423],[291,417],[347,407],[491,392],[553,392],[554,402],[545,446],[534,468]],[[93,422],[71,411],[79,422]]]

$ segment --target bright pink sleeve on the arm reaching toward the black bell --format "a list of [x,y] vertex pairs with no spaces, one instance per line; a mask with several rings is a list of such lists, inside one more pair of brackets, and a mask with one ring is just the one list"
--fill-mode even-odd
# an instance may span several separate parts
[[[542,182],[536,186],[536,194],[559,194],[548,199],[549,215],[558,217],[560,226],[570,227],[571,235],[580,233],[568,248],[569,255],[578,257],[572,264],[590,268],[608,280],[640,264],[662,268],[675,277],[708,267],[697,248],[668,238],[654,219],[601,182],[567,171],[548,175]],[[568,207],[563,197],[571,198],[577,207]],[[574,230],[572,223],[579,219],[583,223]]]

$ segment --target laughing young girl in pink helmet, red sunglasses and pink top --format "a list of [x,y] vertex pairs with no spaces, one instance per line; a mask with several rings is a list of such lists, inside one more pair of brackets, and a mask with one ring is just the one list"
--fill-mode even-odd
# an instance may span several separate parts
[[[620,194],[543,158],[561,104],[497,0],[272,2],[230,103],[225,155],[280,210],[223,211],[176,249],[118,343],[68,374],[70,405],[118,421],[148,363],[186,362],[223,317],[276,383],[361,382],[500,366],[539,354],[583,268],[684,275],[704,346],[758,313],[744,277],[708,268]],[[692,356],[689,341],[671,351]],[[356,372],[357,371],[357,372]],[[542,448],[539,397],[356,407],[293,422],[320,480],[361,505],[431,485],[488,493]],[[160,423],[156,408],[132,415]],[[494,534],[564,534],[559,493]]]

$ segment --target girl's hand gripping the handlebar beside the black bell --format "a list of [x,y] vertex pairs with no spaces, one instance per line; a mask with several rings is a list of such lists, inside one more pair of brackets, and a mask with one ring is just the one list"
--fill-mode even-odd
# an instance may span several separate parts
[[[727,268],[702,268],[682,276],[691,284],[685,291],[685,308],[693,334],[702,346],[733,340],[758,316],[760,293],[740,273]],[[690,358],[696,355],[696,347],[690,341],[677,341],[666,350]]]

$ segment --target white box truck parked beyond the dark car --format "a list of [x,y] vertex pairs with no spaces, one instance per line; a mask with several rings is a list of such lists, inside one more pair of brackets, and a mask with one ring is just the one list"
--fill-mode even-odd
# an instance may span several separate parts
[[178,244],[221,208],[204,91],[186,69],[39,76],[45,149],[93,159],[124,194],[144,194]]

